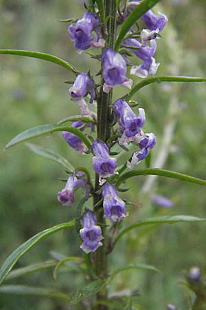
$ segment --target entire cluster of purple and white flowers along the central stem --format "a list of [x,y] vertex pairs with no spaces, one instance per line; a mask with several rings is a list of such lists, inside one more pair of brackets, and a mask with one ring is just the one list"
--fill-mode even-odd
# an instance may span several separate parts
[[[140,1],[130,1],[124,10],[124,19],[132,12]],[[133,80],[128,78],[127,68],[131,65],[128,60],[131,52],[141,61],[140,65],[132,65],[130,74],[135,74],[141,78],[146,78],[148,74],[155,75],[159,67],[159,63],[155,60],[155,51],[157,49],[156,37],[163,30],[168,19],[164,14],[159,15],[148,10],[141,19],[144,21],[146,28],[139,31],[130,28],[126,35],[126,39],[122,43],[119,51],[111,48],[104,48],[106,33],[104,27],[101,28],[100,18],[94,12],[83,14],[82,18],[72,22],[69,25],[69,34],[73,45],[78,52],[83,52],[89,48],[104,48],[102,52],[102,78],[103,82],[95,84],[90,73],[82,72],[76,76],[73,85],[69,88],[71,100],[80,108],[81,116],[93,118],[93,122],[84,123],[83,118],[72,123],[71,127],[75,127],[81,132],[90,130],[90,134],[95,131],[95,123],[97,123],[97,114],[90,110],[92,103],[98,100],[101,92],[98,87],[102,87],[103,92],[110,92],[113,87],[121,85],[122,87],[131,88]],[[103,30],[103,32],[102,32]],[[139,41],[137,40],[139,38]],[[126,51],[126,52],[125,52]],[[99,55],[96,56],[100,59]],[[88,99],[89,96],[89,99]],[[89,104],[90,103],[90,104]],[[93,110],[95,105],[93,105]],[[135,143],[137,150],[133,152],[127,167],[132,169],[139,162],[144,160],[150,150],[155,146],[156,137],[153,133],[145,133],[142,130],[146,123],[145,111],[139,108],[139,114],[133,112],[130,105],[124,99],[117,99],[112,107],[113,116],[117,123],[113,129],[113,134],[117,134],[115,143],[128,151],[126,144]],[[110,148],[113,144],[106,144],[100,139],[93,141],[91,149],[88,149],[79,136],[71,132],[62,132],[62,137],[70,147],[76,149],[80,154],[86,152],[93,153],[93,170],[99,176],[100,194],[103,200],[104,218],[110,220],[111,223],[119,222],[128,216],[126,212],[126,203],[119,198],[117,187],[115,187],[114,174],[117,168],[117,160],[111,156]],[[118,176],[117,176],[118,177]],[[91,181],[88,180],[84,172],[78,171],[69,176],[65,187],[58,192],[58,200],[62,205],[71,206],[75,200],[75,191],[78,187],[83,187],[86,194],[85,200],[89,198],[91,190],[93,191]],[[91,192],[93,194],[93,192]],[[163,201],[165,203],[165,200]],[[80,246],[85,253],[90,253],[102,246],[102,229],[98,225],[95,212],[89,209],[84,211],[82,216],[82,229],[80,229],[80,237],[82,245]]]

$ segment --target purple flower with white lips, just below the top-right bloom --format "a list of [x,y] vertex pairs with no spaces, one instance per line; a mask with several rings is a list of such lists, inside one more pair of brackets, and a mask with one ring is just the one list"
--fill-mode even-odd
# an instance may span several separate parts
[[[130,70],[130,74],[137,75],[141,78],[146,78],[148,74],[155,75],[159,67],[159,63],[156,63],[153,57],[157,48],[155,40],[150,41],[150,46],[143,46],[136,39],[127,39],[124,41],[124,46],[131,50],[139,59],[142,60],[141,65],[133,65]],[[133,50],[130,47],[139,48],[139,50]]]

